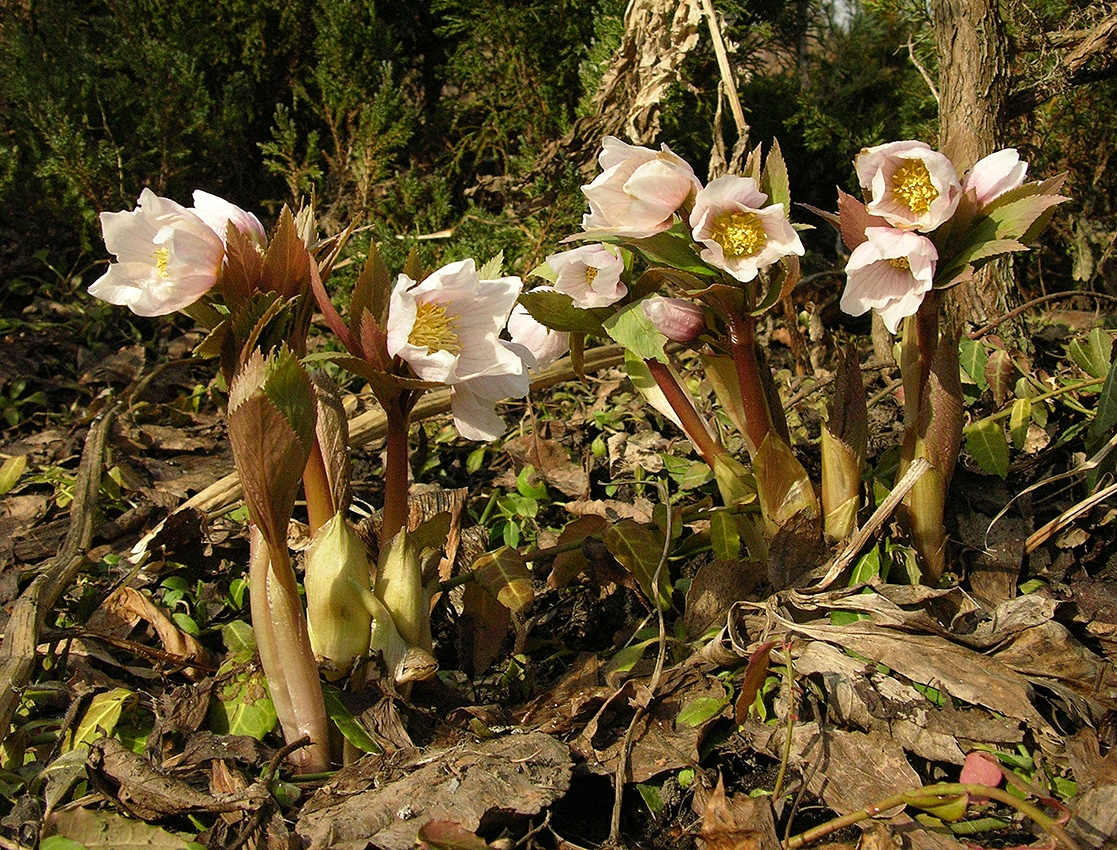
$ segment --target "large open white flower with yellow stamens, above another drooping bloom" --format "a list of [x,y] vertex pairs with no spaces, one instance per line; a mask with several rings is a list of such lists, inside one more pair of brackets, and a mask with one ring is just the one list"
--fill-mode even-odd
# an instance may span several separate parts
[[388,304],[388,353],[431,383],[519,374],[523,362],[499,338],[519,289],[518,277],[481,280],[471,259],[421,284],[400,275]]

